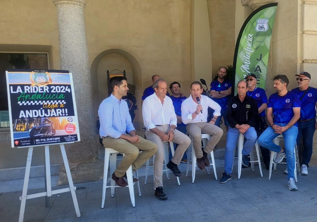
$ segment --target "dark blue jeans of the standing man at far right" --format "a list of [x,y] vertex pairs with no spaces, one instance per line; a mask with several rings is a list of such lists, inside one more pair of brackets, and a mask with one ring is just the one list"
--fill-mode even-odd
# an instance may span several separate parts
[[315,119],[307,122],[297,122],[298,134],[296,143],[297,147],[299,147],[301,137],[303,137],[303,160],[301,164],[305,164],[307,167],[313,154],[313,137],[315,132],[315,123]]

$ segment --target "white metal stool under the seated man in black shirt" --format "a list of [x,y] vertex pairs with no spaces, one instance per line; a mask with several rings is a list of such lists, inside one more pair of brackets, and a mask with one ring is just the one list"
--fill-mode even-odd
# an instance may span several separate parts
[[[238,179],[240,179],[240,177],[241,177],[243,142],[244,142],[244,136],[243,136],[243,134],[240,133],[239,139],[238,139]],[[251,169],[254,172],[254,163],[257,162],[259,164],[261,177],[263,177],[261,159],[260,159],[260,152],[259,152],[259,144],[258,144],[257,140],[256,140],[256,143],[255,143],[255,147],[256,147],[257,160],[254,160],[254,147],[253,147],[251,152],[250,152]],[[236,153],[236,148],[233,151],[233,160],[235,159],[235,153]],[[232,162],[231,172],[233,170],[233,165],[234,164]]]

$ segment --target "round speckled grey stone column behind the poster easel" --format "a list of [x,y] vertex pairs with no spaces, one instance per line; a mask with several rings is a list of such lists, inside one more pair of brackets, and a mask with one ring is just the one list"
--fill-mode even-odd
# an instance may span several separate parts
[[[85,0],[53,0],[57,8],[61,69],[73,73],[81,141],[66,146],[74,183],[101,178],[84,20]],[[99,166],[98,166],[99,165]],[[99,168],[99,169],[98,169]],[[61,168],[59,184],[67,183]]]

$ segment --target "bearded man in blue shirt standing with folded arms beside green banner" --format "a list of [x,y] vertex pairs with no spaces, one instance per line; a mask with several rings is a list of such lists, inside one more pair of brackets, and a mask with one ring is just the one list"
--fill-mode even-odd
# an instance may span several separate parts
[[229,122],[227,121],[226,113],[227,103],[229,96],[231,95],[231,82],[230,80],[224,79],[226,75],[227,69],[225,67],[220,67],[218,70],[218,78],[210,83],[210,94],[212,99],[221,107],[221,116],[218,116],[215,125],[220,127],[220,121],[223,117],[224,125],[226,125],[228,132]]

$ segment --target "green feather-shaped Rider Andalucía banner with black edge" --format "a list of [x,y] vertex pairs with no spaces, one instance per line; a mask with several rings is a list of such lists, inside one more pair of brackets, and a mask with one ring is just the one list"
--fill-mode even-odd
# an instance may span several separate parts
[[250,73],[256,75],[257,87],[265,89],[276,7],[277,3],[263,5],[243,23],[233,61],[232,95],[237,94],[237,83]]

